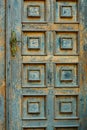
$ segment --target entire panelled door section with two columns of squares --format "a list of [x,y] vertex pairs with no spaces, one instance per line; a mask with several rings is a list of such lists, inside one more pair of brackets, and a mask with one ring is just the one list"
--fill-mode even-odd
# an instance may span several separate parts
[[22,130],[78,130],[78,3],[22,0]]

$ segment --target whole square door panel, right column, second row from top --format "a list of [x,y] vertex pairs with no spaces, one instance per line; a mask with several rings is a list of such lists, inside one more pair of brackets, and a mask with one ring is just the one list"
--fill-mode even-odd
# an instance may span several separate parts
[[55,32],[54,55],[77,55],[78,32]]

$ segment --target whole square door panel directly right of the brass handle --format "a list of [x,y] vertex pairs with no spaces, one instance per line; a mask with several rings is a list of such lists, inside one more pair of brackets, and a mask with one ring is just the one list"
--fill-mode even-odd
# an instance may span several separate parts
[[22,55],[46,55],[45,32],[23,32]]

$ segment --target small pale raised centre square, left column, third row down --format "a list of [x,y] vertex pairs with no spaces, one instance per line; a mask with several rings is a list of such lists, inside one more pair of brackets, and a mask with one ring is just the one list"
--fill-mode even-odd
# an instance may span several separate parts
[[29,70],[28,81],[40,81],[40,70]]

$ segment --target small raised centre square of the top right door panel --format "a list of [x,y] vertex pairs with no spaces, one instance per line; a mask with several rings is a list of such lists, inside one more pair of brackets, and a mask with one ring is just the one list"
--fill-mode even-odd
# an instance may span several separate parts
[[61,6],[60,17],[72,17],[72,6]]

